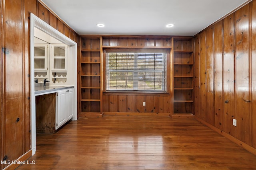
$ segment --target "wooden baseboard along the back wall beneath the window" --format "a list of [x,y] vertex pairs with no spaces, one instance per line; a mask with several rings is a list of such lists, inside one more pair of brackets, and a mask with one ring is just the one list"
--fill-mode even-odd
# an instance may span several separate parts
[[134,116],[169,116],[169,113],[140,113],[140,112],[103,112],[104,115],[134,115]]

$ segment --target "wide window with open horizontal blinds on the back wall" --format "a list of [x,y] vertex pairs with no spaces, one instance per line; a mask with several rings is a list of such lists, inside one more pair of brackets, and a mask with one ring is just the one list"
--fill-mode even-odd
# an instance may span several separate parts
[[166,51],[106,51],[106,91],[166,92]]

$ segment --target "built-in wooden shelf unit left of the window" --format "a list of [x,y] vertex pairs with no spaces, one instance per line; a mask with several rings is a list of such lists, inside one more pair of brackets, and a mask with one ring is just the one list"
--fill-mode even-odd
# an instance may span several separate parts
[[101,37],[80,36],[80,113],[101,112]]

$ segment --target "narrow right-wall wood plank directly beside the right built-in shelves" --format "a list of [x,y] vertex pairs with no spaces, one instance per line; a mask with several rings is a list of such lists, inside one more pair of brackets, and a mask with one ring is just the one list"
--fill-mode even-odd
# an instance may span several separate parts
[[199,35],[196,35],[195,39],[195,76],[194,76],[194,110],[195,115],[200,117],[200,55],[199,55]]

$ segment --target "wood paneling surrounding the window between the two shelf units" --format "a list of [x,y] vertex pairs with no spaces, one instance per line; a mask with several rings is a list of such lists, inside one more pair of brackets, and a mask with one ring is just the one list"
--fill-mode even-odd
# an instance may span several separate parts
[[[137,112],[137,113],[171,113],[173,112],[172,85],[172,37],[156,36],[106,36],[102,37],[102,47],[138,48],[138,47],[170,47],[167,59],[167,92],[169,94],[150,93],[104,93],[102,95],[103,112]],[[104,64],[103,64],[104,67]],[[105,67],[104,67],[105,69]],[[103,69],[103,70],[104,70]],[[103,74],[105,75],[105,74]],[[105,76],[103,77],[105,80]],[[105,83],[103,83],[105,84]],[[104,85],[103,85],[104,86]],[[103,87],[103,89],[105,89]],[[142,106],[146,102],[146,106]]]

